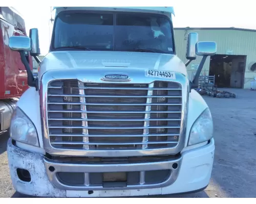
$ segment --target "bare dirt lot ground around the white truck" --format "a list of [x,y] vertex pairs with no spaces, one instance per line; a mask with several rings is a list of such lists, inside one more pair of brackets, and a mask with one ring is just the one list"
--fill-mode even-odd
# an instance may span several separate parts
[[[214,170],[206,190],[179,197],[256,197],[256,91],[232,91],[239,98],[204,97],[215,125]],[[7,139],[0,137],[0,197],[20,197],[10,180]]]

